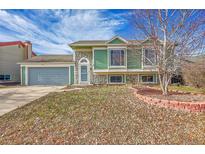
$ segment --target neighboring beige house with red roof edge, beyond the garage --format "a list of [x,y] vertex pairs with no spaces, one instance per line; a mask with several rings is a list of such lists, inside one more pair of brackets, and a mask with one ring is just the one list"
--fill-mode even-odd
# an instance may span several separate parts
[[0,42],[0,83],[20,82],[20,66],[17,64],[35,56],[30,42]]

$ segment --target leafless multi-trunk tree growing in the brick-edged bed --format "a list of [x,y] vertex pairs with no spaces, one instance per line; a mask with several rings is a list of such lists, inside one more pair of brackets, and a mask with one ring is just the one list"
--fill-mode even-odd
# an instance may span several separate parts
[[135,10],[132,22],[138,35],[151,40],[157,55],[155,65],[160,86],[163,95],[167,95],[168,85],[180,62],[187,56],[203,52],[205,11]]

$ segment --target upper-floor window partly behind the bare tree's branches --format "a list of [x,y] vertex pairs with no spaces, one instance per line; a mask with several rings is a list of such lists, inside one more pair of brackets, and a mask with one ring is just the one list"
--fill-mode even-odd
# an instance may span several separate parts
[[156,54],[152,49],[144,50],[144,65],[152,66],[156,64]]

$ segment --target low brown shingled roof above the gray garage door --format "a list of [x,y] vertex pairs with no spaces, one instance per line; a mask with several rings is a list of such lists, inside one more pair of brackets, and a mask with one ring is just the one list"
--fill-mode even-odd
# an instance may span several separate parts
[[73,55],[39,55],[24,62],[74,62]]

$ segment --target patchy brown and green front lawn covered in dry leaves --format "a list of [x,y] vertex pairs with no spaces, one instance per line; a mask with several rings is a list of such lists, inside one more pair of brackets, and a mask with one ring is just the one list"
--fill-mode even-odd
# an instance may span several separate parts
[[50,93],[0,117],[0,144],[205,144],[205,113],[158,108],[126,86]]

